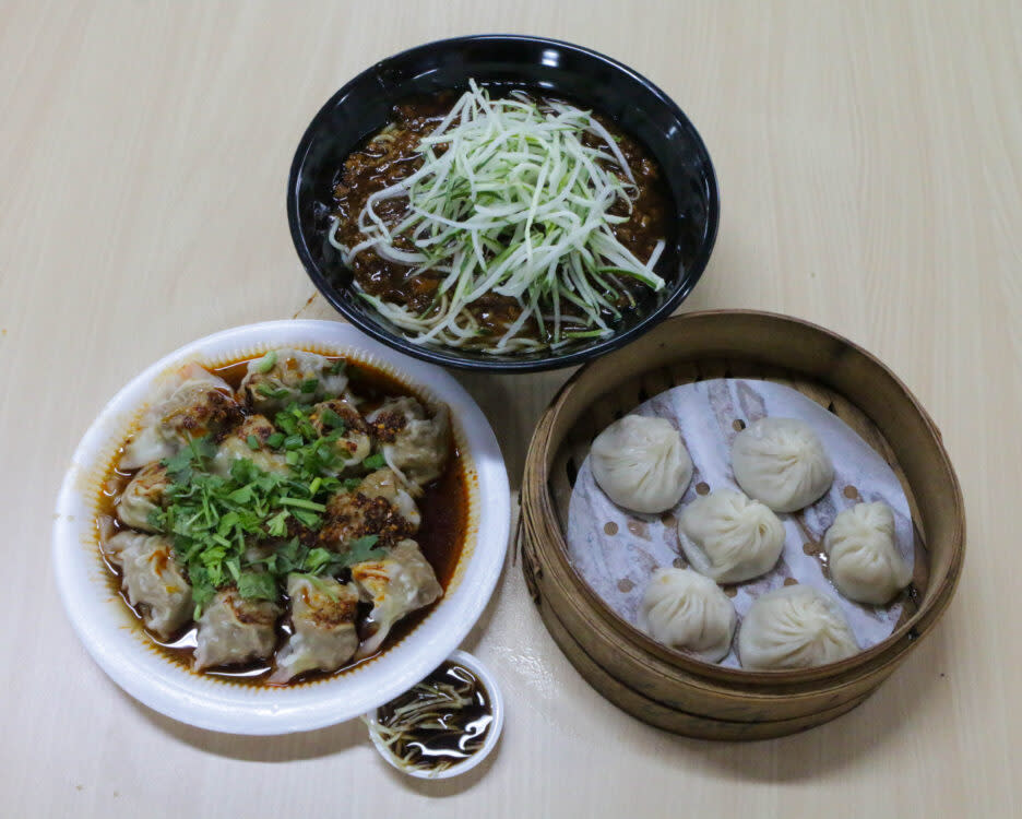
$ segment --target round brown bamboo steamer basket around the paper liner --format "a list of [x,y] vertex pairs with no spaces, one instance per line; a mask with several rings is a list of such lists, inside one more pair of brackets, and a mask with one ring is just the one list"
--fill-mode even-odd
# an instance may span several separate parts
[[[827,407],[902,483],[917,549],[905,615],[887,640],[840,663],[748,672],[697,661],[618,617],[568,558],[568,502],[592,439],[664,390],[732,377],[776,381]],[[857,705],[932,630],[954,593],[965,553],[958,478],[939,430],[908,389],[877,358],[823,328],[748,310],[669,319],[575,372],[533,435],[521,505],[518,544],[525,579],[575,668],[632,715],[704,738],[783,736]]]

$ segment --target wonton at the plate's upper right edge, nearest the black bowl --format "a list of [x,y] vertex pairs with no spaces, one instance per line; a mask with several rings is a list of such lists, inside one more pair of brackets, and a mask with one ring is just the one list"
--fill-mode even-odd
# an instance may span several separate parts
[[451,413],[447,404],[432,416],[415,399],[388,399],[366,416],[390,466],[409,490],[421,488],[443,474],[451,454]]

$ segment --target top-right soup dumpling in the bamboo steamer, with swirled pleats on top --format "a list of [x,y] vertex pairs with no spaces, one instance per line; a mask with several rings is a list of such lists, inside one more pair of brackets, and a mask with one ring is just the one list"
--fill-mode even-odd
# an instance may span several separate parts
[[775,512],[819,500],[834,483],[834,465],[812,427],[797,418],[760,418],[732,443],[732,468],[742,490]]

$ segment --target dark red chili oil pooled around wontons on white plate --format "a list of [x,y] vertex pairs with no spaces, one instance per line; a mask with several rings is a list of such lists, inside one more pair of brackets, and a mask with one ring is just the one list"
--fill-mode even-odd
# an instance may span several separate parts
[[[337,360],[343,358],[343,356],[325,357],[330,360]],[[228,384],[230,384],[233,390],[237,391],[241,387],[241,381],[245,378],[248,363],[250,360],[253,359],[246,358],[224,367],[210,369],[212,372],[215,372]],[[347,373],[349,378],[348,383],[350,384],[352,390],[359,397],[365,400],[365,403],[359,407],[359,411],[364,415],[378,407],[381,403],[383,403],[384,399],[391,396],[411,394],[417,397],[424,404],[429,403],[425,401],[421,395],[416,394],[414,390],[406,387],[401,381],[391,378],[375,367],[369,367],[360,363],[352,363],[348,365]],[[103,488],[99,496],[99,510],[97,520],[102,518],[109,519],[111,526],[109,532],[110,535],[127,529],[117,519],[115,500],[120,496],[124,487],[131,480],[134,472],[123,472],[117,468],[117,464],[120,462],[122,452],[123,449],[121,448],[118,449],[115,453],[106,478],[103,482]],[[418,499],[417,503],[421,513],[423,522],[419,526],[419,531],[415,535],[415,542],[419,545],[423,557],[429,561],[433,572],[437,574],[437,580],[440,581],[440,585],[443,586],[443,591],[447,593],[448,585],[454,575],[454,570],[456,569],[457,561],[461,558],[462,547],[465,543],[465,530],[468,518],[468,494],[465,484],[464,464],[462,463],[460,453],[453,442],[451,444],[451,458],[447,470],[439,479],[429,484],[425,488],[423,497]],[[97,524],[97,534],[98,529],[99,526]],[[180,634],[176,636],[173,640],[166,642],[159,640],[154,634],[146,631],[145,627],[143,626],[141,616],[128,602],[127,595],[121,591],[120,572],[106,559],[102,549],[99,554],[103,558],[104,565],[109,570],[110,593],[119,596],[123,601],[124,605],[135,615],[138,620],[138,628],[145,632],[145,636],[148,638],[154,649],[157,650],[161,654],[182,668],[191,670],[192,650],[197,644],[197,627],[191,625],[187,627]],[[440,600],[443,598],[441,597]],[[437,601],[437,603],[439,602],[440,601]],[[287,686],[300,685],[305,681],[325,679],[338,674],[344,674],[346,670],[354,668],[357,665],[361,665],[363,663],[372,662],[373,658],[390,650],[392,646],[404,640],[405,637],[411,634],[416,629],[416,627],[424,619],[426,619],[429,613],[432,612],[437,603],[426,606],[425,608],[420,608],[417,612],[413,612],[394,624],[390,634],[387,637],[387,640],[384,640],[383,644],[380,646],[380,650],[376,654],[359,661],[348,663],[335,672],[309,672],[307,674],[302,674],[288,682]],[[359,617],[363,617],[368,613],[368,606],[364,607],[364,604],[359,604]],[[287,617],[284,616],[277,622],[278,648],[290,634],[290,625],[287,624],[286,620]],[[266,686],[269,684],[264,681],[264,678],[269,676],[272,667],[272,663],[269,661],[258,661],[255,663],[233,666],[229,668],[206,669],[200,674],[227,678],[231,682],[242,685]]]

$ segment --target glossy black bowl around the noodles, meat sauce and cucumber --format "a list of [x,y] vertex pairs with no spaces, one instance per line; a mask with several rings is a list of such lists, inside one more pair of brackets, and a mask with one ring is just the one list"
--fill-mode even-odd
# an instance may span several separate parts
[[[467,87],[470,78],[498,88],[534,88],[610,117],[659,164],[674,206],[674,235],[656,265],[667,282],[609,335],[557,352],[496,356],[413,344],[358,298],[352,273],[328,241],[332,188],[345,157],[379,131],[393,105],[417,94]],[[668,317],[699,281],[716,237],[720,204],[713,163],[681,109],[644,76],[596,51],[516,35],[430,43],[390,57],[334,94],[309,124],[292,163],[287,217],[301,263],[353,324],[417,358],[448,367],[528,372],[568,367],[627,344]]]

